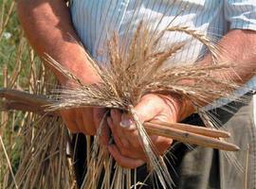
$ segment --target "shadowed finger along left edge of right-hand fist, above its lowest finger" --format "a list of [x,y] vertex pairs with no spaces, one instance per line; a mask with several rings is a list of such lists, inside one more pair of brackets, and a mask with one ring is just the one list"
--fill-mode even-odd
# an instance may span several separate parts
[[[124,146],[124,147],[129,146],[129,142],[124,137],[125,135],[119,126],[120,120],[121,120],[121,112],[119,112],[119,110],[114,109],[114,110],[111,110],[110,115],[111,115],[111,119],[112,119],[112,123],[113,123],[112,128],[111,128],[113,135],[115,135],[116,138],[119,138],[119,141],[121,142],[122,146]],[[119,147],[122,147],[122,146],[119,146]]]

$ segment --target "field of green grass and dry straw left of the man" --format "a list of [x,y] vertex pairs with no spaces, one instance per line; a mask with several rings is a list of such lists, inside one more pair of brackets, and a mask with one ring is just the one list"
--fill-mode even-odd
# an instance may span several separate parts
[[[53,80],[27,43],[15,1],[0,0],[0,96],[3,88],[48,94]],[[0,189],[75,187],[59,118],[13,111],[2,96],[0,109]]]

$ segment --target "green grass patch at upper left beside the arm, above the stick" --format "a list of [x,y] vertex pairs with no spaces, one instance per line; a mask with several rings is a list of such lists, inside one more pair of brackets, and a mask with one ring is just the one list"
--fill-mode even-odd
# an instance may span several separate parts
[[[12,9],[9,14],[11,6],[11,0],[0,0],[0,86],[3,86],[3,67],[7,66],[9,73],[14,70],[17,71],[18,61],[21,61],[22,67],[20,78],[27,75],[27,68],[29,67],[29,47],[27,41],[24,38],[23,31],[19,26],[19,21],[16,13],[16,7]],[[8,19],[8,24],[4,26]],[[27,83],[23,81],[21,84]],[[26,86],[24,86],[26,87]]]

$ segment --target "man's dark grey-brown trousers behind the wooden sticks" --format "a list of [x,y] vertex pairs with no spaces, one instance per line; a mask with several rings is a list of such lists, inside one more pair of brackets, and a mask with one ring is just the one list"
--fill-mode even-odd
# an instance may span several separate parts
[[[224,107],[232,107],[231,112],[223,109],[212,111],[221,121],[222,127],[231,133],[229,142],[240,146],[241,149],[238,152],[225,152],[176,142],[167,153],[168,168],[175,183],[173,188],[242,189],[247,184],[247,189],[256,189],[256,126],[253,110],[256,98],[253,101],[251,94],[248,94],[248,97],[248,104],[231,102]],[[204,125],[197,114],[192,114],[184,123]],[[81,185],[86,172],[86,144],[82,134],[78,136],[78,145],[83,146],[77,147],[75,153],[76,176],[78,184]],[[146,175],[145,165],[137,168],[137,181],[145,180]],[[146,184],[143,188],[156,188],[150,178],[146,180]],[[159,184],[157,186],[159,187]]]

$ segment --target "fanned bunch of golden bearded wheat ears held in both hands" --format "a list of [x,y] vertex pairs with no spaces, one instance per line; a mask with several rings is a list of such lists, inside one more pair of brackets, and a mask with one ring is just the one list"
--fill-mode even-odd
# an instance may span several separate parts
[[[152,35],[147,25],[142,22],[138,24],[130,43],[121,42],[117,34],[113,36],[108,42],[107,64],[99,67],[97,62],[86,55],[101,77],[101,82],[97,85],[82,84],[79,78],[66,71],[61,64],[46,56],[51,66],[78,84],[77,88],[56,90],[56,98],[59,101],[50,105],[48,111],[94,106],[130,112],[134,116],[141,146],[149,164],[164,187],[171,187],[172,180],[168,176],[166,166],[159,161],[157,150],[134,111],[134,106],[141,96],[149,93],[178,94],[181,99],[191,100],[195,110],[203,115],[202,119],[206,125],[212,126],[214,124],[210,122],[207,112],[200,109],[201,104],[211,103],[212,98],[239,100],[231,93],[240,87],[231,79],[233,77],[229,77],[235,76],[234,64],[219,62],[218,49],[210,43],[210,40],[186,26],[168,26],[164,30],[164,32],[173,31],[185,32],[205,44],[210,50],[214,63],[172,66],[170,60],[184,48],[186,43],[173,43],[167,45],[165,49],[159,48],[162,44],[160,39],[162,32]],[[166,63],[170,66],[165,66]],[[216,73],[224,73],[224,77],[215,77]]]

